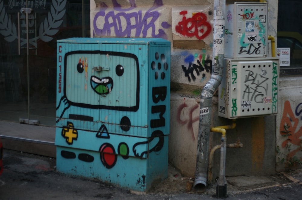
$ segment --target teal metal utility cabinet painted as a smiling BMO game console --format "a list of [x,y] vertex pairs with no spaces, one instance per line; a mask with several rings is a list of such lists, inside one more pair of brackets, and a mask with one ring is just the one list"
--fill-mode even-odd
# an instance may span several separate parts
[[147,191],[167,176],[170,42],[57,41],[57,170]]

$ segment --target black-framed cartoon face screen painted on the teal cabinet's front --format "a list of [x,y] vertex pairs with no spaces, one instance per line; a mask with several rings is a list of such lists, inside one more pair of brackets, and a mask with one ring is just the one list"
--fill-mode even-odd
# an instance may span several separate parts
[[65,76],[65,96],[71,104],[121,110],[138,106],[139,68],[133,54],[70,53],[66,56]]

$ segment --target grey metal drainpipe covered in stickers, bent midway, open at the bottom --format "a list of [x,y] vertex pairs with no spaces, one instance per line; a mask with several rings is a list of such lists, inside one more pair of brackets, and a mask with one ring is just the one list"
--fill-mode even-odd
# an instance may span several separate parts
[[225,0],[214,0],[214,34],[212,75],[200,95],[200,115],[194,189],[204,192],[207,187],[207,167],[212,97],[223,77]]

